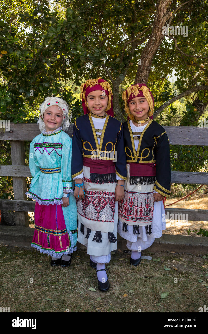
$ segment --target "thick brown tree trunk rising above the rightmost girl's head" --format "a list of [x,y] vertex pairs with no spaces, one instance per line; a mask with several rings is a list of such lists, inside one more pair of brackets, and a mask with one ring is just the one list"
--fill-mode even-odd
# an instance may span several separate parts
[[153,57],[165,36],[162,34],[162,27],[166,25],[167,20],[170,18],[170,6],[170,0],[157,1],[152,33],[142,51],[141,65],[138,65],[134,83],[147,83],[148,81]]

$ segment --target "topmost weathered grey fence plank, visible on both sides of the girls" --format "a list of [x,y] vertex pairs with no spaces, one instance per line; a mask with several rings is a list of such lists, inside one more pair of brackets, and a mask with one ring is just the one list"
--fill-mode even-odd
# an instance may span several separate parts
[[[181,126],[164,126],[164,128],[171,145],[208,145],[208,128]],[[0,140],[32,141],[35,136],[40,134],[36,123],[11,123],[10,131],[1,131]],[[73,124],[66,133],[71,137],[72,131]]]

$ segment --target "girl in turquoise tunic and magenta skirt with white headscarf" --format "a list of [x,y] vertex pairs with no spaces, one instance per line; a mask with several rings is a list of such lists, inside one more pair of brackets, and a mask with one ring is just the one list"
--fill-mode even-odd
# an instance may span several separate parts
[[70,124],[67,103],[48,97],[40,106],[41,134],[30,144],[32,175],[27,196],[35,203],[32,247],[52,256],[51,266],[70,265],[76,251],[77,210],[71,179],[72,140],[63,132]]

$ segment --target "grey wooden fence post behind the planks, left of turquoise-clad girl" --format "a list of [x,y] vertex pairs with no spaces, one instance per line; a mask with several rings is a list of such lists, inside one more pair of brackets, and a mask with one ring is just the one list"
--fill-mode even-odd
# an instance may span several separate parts
[[[24,141],[10,141],[12,165],[25,165]],[[27,182],[25,177],[13,177],[14,199],[26,200]],[[29,227],[28,212],[15,211],[16,226]]]

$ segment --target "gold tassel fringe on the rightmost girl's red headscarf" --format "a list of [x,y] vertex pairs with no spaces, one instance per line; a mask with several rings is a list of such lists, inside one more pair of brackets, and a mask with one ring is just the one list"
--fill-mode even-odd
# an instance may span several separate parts
[[126,91],[124,91],[122,93],[122,100],[125,102],[125,107],[124,108],[125,108],[125,111],[126,111],[127,115],[129,116],[129,118],[131,120],[133,120],[134,116],[130,113],[129,105],[128,105],[127,101],[128,101],[131,94],[133,94],[133,96],[140,95],[140,91],[143,92],[143,95],[144,95],[145,99],[147,100],[147,102],[149,104],[149,107],[150,107],[150,111],[148,112],[148,116],[153,115],[153,110],[154,110],[153,100],[152,100],[149,88],[146,87],[146,86],[139,87],[139,85],[134,85],[134,86],[130,86],[130,87],[127,88],[127,96],[126,96]]

